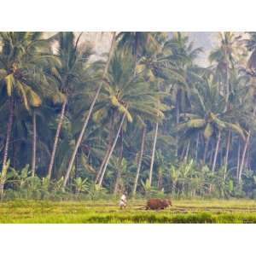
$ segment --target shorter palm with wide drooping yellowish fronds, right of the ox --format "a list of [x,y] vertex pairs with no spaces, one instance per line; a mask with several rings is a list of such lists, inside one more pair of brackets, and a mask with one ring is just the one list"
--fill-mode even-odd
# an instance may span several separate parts
[[218,84],[212,79],[206,79],[204,84],[191,90],[192,108],[182,113],[183,123],[177,125],[177,131],[186,131],[193,136],[196,132],[203,134],[206,140],[204,160],[206,159],[208,143],[212,136],[217,137],[216,150],[213,158],[212,171],[215,170],[221,131],[234,131],[245,139],[244,131],[239,123],[229,119],[230,113],[224,112],[224,97],[218,93]]

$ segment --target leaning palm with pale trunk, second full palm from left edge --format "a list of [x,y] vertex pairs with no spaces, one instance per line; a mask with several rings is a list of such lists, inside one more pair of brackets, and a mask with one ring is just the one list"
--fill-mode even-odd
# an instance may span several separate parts
[[61,126],[67,111],[68,99],[76,91],[77,84],[81,83],[85,70],[85,64],[88,62],[92,54],[91,48],[79,47],[79,39],[75,38],[74,32],[59,32],[54,36],[57,40],[57,49],[55,58],[58,60],[55,66],[49,67],[49,81],[55,85],[56,92],[53,96],[55,104],[61,103],[61,113],[58,125],[55,131],[55,139],[50,155],[48,177],[52,175],[55,162],[55,154],[61,133]]

